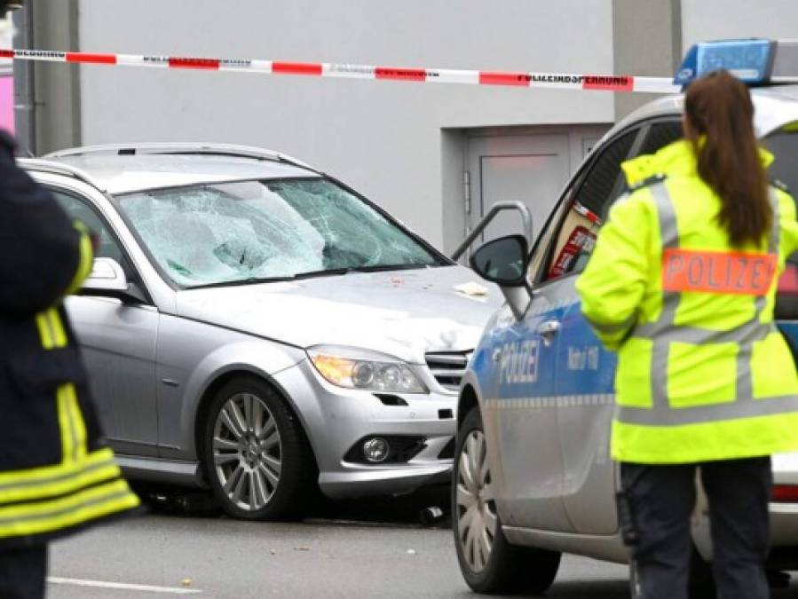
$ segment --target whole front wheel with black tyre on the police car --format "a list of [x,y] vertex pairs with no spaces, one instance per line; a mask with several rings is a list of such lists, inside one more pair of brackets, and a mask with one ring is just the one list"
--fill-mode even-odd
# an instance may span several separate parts
[[557,576],[560,554],[510,545],[486,460],[482,417],[474,407],[457,431],[454,450],[452,528],[462,577],[477,593],[542,593]]

